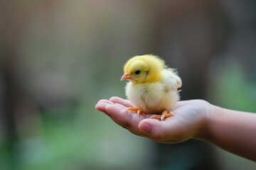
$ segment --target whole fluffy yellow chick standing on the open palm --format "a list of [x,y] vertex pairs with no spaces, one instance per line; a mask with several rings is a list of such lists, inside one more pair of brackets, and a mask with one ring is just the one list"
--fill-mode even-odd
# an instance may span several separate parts
[[132,57],[124,64],[121,81],[128,80],[125,94],[138,114],[155,114],[151,118],[164,120],[174,115],[172,109],[179,100],[181,78],[155,55]]

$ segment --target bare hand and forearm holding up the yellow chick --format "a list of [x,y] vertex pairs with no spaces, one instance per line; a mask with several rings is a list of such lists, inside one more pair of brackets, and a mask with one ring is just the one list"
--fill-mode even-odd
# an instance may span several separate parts
[[169,144],[203,140],[256,161],[256,113],[220,108],[203,100],[178,101],[175,115],[160,121],[126,111],[127,107],[132,103],[119,97],[102,99],[95,106],[134,135]]

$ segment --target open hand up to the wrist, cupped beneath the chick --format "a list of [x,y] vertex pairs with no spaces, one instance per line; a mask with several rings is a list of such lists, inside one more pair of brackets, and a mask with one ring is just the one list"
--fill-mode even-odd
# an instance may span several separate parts
[[151,115],[138,115],[125,111],[132,103],[126,99],[112,97],[98,101],[95,108],[109,115],[115,123],[134,135],[149,137],[163,143],[178,143],[191,138],[203,139],[210,118],[210,103],[203,100],[178,101],[175,115],[163,121],[151,119]]

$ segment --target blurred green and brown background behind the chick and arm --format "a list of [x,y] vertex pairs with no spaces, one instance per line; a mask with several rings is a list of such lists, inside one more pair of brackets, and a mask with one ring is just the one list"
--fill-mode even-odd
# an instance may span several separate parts
[[[256,169],[206,142],[160,145],[95,111],[153,53],[181,99],[256,113],[253,0],[0,1],[0,169]],[[255,135],[255,132],[252,132]],[[246,145],[246,144],[245,144]]]

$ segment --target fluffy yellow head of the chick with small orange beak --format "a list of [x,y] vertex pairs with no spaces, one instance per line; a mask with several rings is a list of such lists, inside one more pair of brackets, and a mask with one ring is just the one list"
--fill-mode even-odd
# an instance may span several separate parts
[[132,81],[134,84],[161,81],[161,70],[166,68],[164,60],[154,55],[132,57],[124,64],[122,80]]

